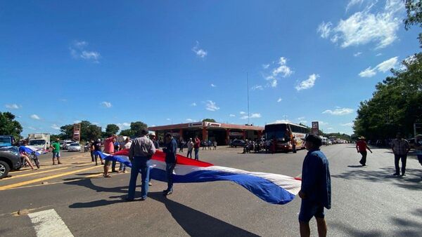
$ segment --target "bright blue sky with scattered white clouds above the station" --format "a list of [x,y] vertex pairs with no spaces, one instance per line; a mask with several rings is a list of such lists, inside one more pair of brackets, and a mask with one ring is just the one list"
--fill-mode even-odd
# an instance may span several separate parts
[[287,119],[352,133],[359,102],[417,53],[401,0],[1,1],[0,111],[27,133]]

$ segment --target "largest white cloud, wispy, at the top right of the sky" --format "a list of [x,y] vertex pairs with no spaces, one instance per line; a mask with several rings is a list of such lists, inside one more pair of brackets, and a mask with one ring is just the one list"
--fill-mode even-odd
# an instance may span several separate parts
[[[330,29],[328,32],[323,31],[327,23],[322,22],[318,27],[318,32],[321,32],[323,38],[331,36],[331,41],[340,43],[342,48],[366,43],[375,43],[377,49],[385,48],[397,39],[397,31],[402,24],[404,4],[401,0],[387,0],[384,8],[373,7],[377,3],[378,1],[375,3],[370,1],[364,10],[354,13],[345,20],[340,20],[335,27],[328,28]],[[362,1],[350,1],[347,4],[347,10],[357,4],[362,4]]]

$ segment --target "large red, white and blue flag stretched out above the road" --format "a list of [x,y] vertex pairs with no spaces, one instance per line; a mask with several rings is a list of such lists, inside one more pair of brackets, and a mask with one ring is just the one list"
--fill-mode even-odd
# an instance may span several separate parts
[[[129,149],[117,151],[113,155],[96,151],[109,161],[122,162],[129,167],[132,163],[129,161]],[[151,158],[150,177],[153,180],[166,181],[165,177],[165,153],[156,151]],[[249,172],[212,165],[203,161],[195,161],[185,156],[177,155],[177,165],[173,171],[174,183],[190,182],[212,182],[212,181],[231,181],[240,184],[248,189],[252,194],[268,203],[286,204],[295,198],[300,191],[300,179],[286,175],[277,175],[267,172]]]

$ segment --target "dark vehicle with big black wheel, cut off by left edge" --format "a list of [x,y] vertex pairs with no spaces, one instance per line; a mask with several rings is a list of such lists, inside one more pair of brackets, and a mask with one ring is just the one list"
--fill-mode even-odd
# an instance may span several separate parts
[[18,147],[5,147],[0,149],[0,180],[8,175],[11,170],[22,168]]

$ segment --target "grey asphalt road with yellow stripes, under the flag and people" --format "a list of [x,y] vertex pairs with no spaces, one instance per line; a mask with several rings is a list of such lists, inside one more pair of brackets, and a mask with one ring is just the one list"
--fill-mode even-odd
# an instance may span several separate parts
[[[373,149],[363,168],[351,144],[322,151],[333,185],[333,207],[326,212],[329,236],[422,236],[422,168],[416,158],[408,158],[407,177],[394,177],[387,149]],[[219,147],[200,151],[200,158],[298,176],[305,153],[241,154],[241,149]],[[165,183],[154,181],[146,201],[125,203],[129,174],[104,179],[102,167],[84,153],[63,152],[63,163],[0,180],[0,236],[36,236],[30,217],[16,214],[22,209],[54,209],[73,236],[298,236],[299,198],[271,205],[231,182],[175,184],[174,194],[165,198]]]

